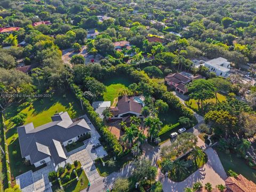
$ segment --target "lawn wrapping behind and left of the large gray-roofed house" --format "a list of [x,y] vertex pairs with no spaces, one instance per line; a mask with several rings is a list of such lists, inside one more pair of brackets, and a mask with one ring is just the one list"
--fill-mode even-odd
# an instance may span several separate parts
[[51,116],[61,111],[67,111],[71,118],[84,114],[71,93],[66,93],[64,97],[61,94],[54,93],[51,98],[37,99],[22,104],[13,103],[9,106],[5,110],[6,139],[11,174],[14,178],[35,168],[34,165],[26,165],[25,159],[21,157],[17,127],[11,121],[11,118],[17,115],[18,111],[28,115],[25,124],[33,122],[35,127],[51,122]]

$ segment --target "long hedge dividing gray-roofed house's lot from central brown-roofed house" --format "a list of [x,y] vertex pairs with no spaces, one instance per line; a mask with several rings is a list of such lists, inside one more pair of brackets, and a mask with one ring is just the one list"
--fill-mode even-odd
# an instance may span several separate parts
[[102,138],[106,141],[108,149],[115,156],[123,155],[123,147],[121,146],[118,139],[112,134],[108,128],[103,124],[102,119],[94,111],[93,107],[90,105],[90,102],[83,97],[83,92],[71,79],[69,80],[69,87],[71,91],[75,94],[76,98],[83,103],[84,109],[87,116],[90,118],[90,121],[93,123],[95,128],[98,130]]

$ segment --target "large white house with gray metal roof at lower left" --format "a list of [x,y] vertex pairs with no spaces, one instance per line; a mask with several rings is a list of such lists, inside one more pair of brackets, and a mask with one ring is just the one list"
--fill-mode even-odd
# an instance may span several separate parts
[[52,122],[34,127],[33,123],[17,127],[22,158],[36,167],[51,162],[54,167],[67,160],[63,147],[91,131],[84,119],[73,122],[67,112],[51,117]]

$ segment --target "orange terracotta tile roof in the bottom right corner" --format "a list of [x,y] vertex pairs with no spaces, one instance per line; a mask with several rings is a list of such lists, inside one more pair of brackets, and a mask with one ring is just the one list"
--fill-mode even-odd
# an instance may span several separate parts
[[247,180],[242,174],[239,174],[237,178],[228,177],[225,181],[226,186],[233,192],[252,192],[256,191],[256,184]]

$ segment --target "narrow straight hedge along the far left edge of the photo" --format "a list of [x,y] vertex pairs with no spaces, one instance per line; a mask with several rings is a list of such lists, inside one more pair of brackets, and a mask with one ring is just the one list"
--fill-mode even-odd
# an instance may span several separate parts
[[[3,117],[3,114],[1,113],[0,114],[0,128],[1,128],[1,131],[2,131],[3,138],[4,138],[4,146],[1,146],[1,147],[4,149],[4,152],[5,152],[5,155],[4,155],[4,158],[3,158],[2,162],[5,161],[5,170],[6,170],[6,172],[3,173],[3,174],[6,175],[5,179],[8,182],[8,187],[11,187],[11,183],[12,183],[11,169],[10,169],[10,166],[9,166],[9,163],[8,163],[8,162],[10,162],[10,159],[9,159],[9,154],[8,154],[8,146],[5,144],[5,143],[7,143],[7,141],[6,141],[6,133],[5,133],[3,122],[4,122],[4,117]],[[3,166],[4,166],[4,164],[3,164]]]

